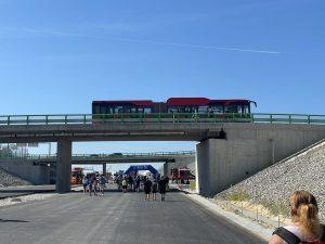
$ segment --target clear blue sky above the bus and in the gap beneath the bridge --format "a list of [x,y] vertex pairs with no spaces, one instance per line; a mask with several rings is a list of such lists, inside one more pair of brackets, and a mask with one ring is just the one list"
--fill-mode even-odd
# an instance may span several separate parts
[[[250,99],[325,114],[324,0],[0,0],[0,114],[91,113],[92,100]],[[194,150],[87,143],[75,153]]]

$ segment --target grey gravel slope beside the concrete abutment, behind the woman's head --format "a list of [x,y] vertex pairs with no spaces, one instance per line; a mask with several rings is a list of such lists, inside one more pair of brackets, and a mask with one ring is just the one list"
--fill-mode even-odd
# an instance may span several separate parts
[[216,195],[217,198],[249,201],[288,213],[292,191],[310,191],[317,200],[320,219],[325,222],[325,142],[280,162]]

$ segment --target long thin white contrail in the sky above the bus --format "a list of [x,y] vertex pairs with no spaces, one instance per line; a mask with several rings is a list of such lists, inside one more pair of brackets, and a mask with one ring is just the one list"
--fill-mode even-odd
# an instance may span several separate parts
[[184,44],[184,43],[173,43],[173,42],[162,42],[162,41],[148,41],[148,40],[135,40],[135,39],[125,39],[125,38],[112,38],[112,39],[121,40],[121,41],[129,41],[129,42],[153,43],[153,44],[168,44],[168,46],[199,48],[199,49],[217,49],[217,50],[238,51],[238,52],[257,52],[257,53],[265,53],[265,54],[280,54],[281,53],[281,52],[277,52],[277,51],[269,51],[269,50],[224,48],[224,47],[202,46],[202,44]]

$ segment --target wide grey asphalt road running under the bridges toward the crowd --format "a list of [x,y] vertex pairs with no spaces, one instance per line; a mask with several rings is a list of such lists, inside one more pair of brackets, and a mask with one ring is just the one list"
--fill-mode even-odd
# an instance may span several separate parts
[[1,244],[257,244],[255,234],[169,192],[166,202],[143,193],[80,192],[0,208]]

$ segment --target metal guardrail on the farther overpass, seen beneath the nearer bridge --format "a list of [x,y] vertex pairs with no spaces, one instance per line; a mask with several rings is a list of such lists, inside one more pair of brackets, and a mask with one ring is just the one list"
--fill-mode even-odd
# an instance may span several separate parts
[[[146,157],[146,156],[180,156],[193,155],[195,151],[179,151],[179,152],[154,152],[154,153],[112,153],[112,154],[73,154],[73,158],[120,158],[120,157]],[[30,155],[1,155],[1,159],[56,159],[56,154],[30,154]]]

